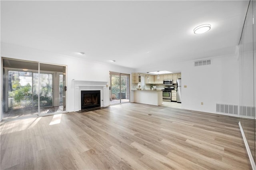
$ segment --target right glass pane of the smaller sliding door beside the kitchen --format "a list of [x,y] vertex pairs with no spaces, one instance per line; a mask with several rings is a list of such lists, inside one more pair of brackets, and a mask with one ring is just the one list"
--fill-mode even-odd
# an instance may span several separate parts
[[121,103],[130,102],[130,77],[128,74],[121,74]]

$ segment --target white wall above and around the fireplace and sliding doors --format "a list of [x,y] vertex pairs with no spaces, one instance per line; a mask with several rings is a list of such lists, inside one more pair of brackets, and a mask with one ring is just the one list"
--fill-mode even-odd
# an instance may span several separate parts
[[[86,81],[109,81],[109,71],[131,74],[132,69],[120,67],[112,64],[89,61],[88,59],[80,59],[70,57],[28,47],[20,47],[1,43],[1,57],[14,59],[22,59],[28,61],[38,61],[43,63],[59,64],[67,66],[67,95],[66,110],[74,111],[74,88],[72,87],[72,79]],[[86,56],[85,56],[86,58]],[[2,62],[2,61],[0,61]],[[2,63],[1,63],[2,65]],[[2,70],[0,71],[2,84]],[[2,89],[1,89],[2,93]],[[2,114],[1,114],[2,115]]]

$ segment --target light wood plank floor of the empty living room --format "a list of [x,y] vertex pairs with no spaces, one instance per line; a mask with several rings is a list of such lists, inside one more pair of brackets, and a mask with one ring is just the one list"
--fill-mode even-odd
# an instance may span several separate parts
[[251,169],[238,121],[137,103],[11,121],[0,168]]

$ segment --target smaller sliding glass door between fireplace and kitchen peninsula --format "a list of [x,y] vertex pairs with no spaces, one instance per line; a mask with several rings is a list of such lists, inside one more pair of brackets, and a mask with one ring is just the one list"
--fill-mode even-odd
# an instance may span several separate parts
[[130,101],[130,75],[110,72],[110,105]]

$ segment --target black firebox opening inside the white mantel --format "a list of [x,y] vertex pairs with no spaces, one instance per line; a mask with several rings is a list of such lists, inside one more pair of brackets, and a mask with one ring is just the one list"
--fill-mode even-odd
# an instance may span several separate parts
[[100,107],[100,90],[81,91],[81,110]]

